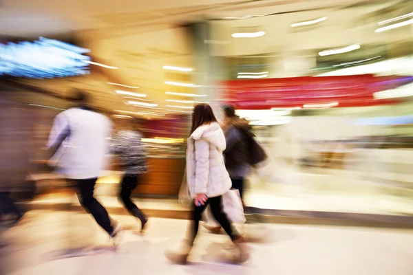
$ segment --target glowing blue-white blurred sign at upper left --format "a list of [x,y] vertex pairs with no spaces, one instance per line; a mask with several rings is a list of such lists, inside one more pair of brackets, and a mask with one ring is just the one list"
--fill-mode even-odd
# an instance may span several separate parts
[[34,42],[0,44],[0,76],[61,78],[89,74],[90,50],[39,37]]

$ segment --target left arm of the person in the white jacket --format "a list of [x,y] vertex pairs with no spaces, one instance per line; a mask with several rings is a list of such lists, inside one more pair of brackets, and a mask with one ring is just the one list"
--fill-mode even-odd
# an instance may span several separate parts
[[70,135],[70,124],[67,116],[60,113],[53,120],[52,130],[47,141],[47,151],[50,157],[56,153],[63,141]]

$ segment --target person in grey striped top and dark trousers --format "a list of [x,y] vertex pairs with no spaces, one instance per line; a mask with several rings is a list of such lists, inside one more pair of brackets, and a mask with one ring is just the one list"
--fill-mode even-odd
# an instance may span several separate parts
[[132,191],[138,186],[140,175],[147,172],[142,134],[139,131],[140,122],[137,119],[129,121],[124,118],[120,121],[121,129],[114,135],[111,144],[112,152],[119,156],[120,165],[125,170],[125,175],[120,183],[119,197],[129,213],[140,220],[140,232],[144,233],[148,221],[147,217],[131,201]]

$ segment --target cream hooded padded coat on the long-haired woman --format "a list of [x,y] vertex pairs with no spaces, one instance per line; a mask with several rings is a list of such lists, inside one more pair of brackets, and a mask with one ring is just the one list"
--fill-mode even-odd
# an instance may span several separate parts
[[225,146],[224,133],[216,122],[198,127],[188,138],[187,183],[191,197],[200,193],[218,197],[231,188],[222,155]]

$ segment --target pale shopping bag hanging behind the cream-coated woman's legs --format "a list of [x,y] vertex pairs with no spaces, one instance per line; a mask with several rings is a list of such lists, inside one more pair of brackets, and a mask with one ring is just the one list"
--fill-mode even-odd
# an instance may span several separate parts
[[244,207],[239,190],[231,189],[222,195],[222,206],[231,223],[245,223]]

